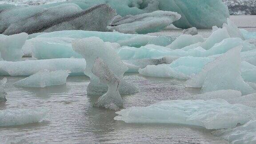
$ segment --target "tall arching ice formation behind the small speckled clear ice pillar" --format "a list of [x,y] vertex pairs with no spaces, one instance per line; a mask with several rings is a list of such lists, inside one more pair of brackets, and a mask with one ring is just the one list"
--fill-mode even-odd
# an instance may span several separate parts
[[72,42],[72,48],[75,52],[80,53],[86,60],[86,68],[84,74],[90,77],[90,84],[87,87],[87,93],[96,95],[104,94],[107,92],[108,87],[106,84],[100,83],[99,78],[92,73],[92,67],[97,57],[100,57],[108,68],[118,77],[120,80],[119,92],[120,94],[130,94],[138,92],[137,88],[132,84],[128,84],[123,79],[124,72],[128,70],[120,57],[109,45],[105,44],[103,40],[98,37],[89,37],[85,39],[77,39]]

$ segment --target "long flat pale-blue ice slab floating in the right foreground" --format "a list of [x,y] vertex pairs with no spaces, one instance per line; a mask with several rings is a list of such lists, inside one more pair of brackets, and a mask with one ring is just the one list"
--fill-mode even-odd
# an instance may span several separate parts
[[126,123],[168,123],[202,126],[207,129],[234,128],[256,116],[255,108],[229,104],[223,99],[169,100],[147,107],[116,112],[115,120]]

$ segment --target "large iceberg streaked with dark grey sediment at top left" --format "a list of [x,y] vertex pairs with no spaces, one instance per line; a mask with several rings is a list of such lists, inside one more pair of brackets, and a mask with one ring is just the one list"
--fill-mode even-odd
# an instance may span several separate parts
[[61,4],[50,8],[15,7],[0,13],[0,33],[12,35],[61,30],[108,31],[107,26],[115,15],[116,11],[106,4],[87,10],[82,10],[76,4]]

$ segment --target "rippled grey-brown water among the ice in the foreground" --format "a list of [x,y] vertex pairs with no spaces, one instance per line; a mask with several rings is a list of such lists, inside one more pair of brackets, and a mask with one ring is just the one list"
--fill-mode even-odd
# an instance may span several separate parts
[[[22,88],[13,83],[24,77],[7,78],[8,101],[0,104],[0,109],[44,106],[50,111],[41,123],[0,127],[1,144],[9,136],[34,144],[226,143],[201,127],[116,121],[114,111],[92,107],[99,96],[87,95],[87,76],[68,77],[67,84],[48,88]],[[182,80],[144,77],[138,73],[126,74],[125,79],[140,89],[139,93],[122,96],[125,108],[199,93],[197,89],[185,89]]]

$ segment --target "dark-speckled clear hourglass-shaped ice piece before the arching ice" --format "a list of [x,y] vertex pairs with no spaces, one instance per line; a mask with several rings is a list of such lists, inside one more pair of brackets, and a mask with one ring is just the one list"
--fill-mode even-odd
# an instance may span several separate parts
[[116,111],[122,108],[123,100],[118,91],[120,80],[108,68],[106,62],[97,57],[92,67],[92,73],[99,77],[100,82],[108,85],[108,91],[103,96],[100,96],[94,106]]

